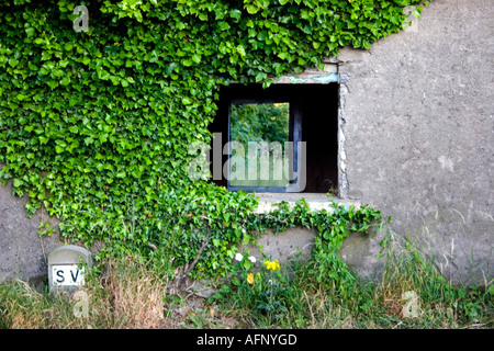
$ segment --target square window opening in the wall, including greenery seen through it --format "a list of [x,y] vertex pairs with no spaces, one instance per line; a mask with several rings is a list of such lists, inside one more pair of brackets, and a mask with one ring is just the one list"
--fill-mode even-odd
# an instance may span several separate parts
[[223,87],[212,182],[231,191],[336,194],[338,84]]

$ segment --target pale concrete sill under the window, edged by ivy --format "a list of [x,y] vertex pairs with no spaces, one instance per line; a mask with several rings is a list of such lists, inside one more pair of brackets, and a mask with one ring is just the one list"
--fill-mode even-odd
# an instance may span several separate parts
[[360,207],[359,201],[343,200],[336,196],[329,197],[326,194],[321,193],[256,193],[256,197],[259,199],[259,206],[255,213],[268,213],[270,211],[278,210],[278,206],[274,204],[282,201],[288,202],[290,208],[293,208],[295,202],[301,199],[305,199],[305,202],[308,204],[311,211],[321,211],[324,208],[332,212],[332,202],[341,204],[347,208],[350,205],[355,205],[357,208]]

